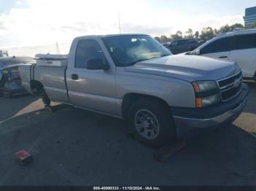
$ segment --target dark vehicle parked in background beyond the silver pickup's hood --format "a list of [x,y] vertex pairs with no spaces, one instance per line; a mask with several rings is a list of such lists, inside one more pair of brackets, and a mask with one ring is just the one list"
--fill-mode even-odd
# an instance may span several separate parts
[[198,42],[197,39],[180,39],[170,43],[170,45],[165,45],[170,51],[176,55],[182,52],[189,52],[195,50],[203,42]]

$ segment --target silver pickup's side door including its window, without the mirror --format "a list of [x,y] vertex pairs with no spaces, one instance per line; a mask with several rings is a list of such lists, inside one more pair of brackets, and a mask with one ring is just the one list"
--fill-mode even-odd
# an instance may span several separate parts
[[84,109],[116,115],[115,70],[111,66],[109,70],[86,69],[89,59],[107,61],[103,46],[97,39],[80,39],[72,46],[66,74],[70,101]]

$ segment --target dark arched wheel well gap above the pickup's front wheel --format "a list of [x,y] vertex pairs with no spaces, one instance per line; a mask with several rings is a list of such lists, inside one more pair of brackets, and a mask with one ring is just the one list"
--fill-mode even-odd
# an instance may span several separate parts
[[124,118],[127,116],[127,112],[130,104],[132,104],[134,101],[140,98],[149,98],[151,100],[158,101],[159,103],[165,105],[167,109],[170,109],[166,101],[164,101],[162,98],[158,98],[152,95],[140,94],[140,93],[128,93],[127,95],[124,95],[124,99],[122,103],[122,113]]

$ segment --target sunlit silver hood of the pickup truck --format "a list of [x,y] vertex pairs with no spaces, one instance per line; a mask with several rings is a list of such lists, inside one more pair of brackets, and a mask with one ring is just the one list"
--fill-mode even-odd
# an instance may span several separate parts
[[240,68],[234,62],[213,58],[195,55],[170,55],[138,62],[134,66],[127,66],[125,71],[173,77],[194,82],[229,77],[240,71]]

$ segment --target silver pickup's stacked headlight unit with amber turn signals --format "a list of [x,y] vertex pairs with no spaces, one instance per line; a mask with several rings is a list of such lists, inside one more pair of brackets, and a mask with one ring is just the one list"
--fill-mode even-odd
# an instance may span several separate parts
[[192,83],[195,90],[196,107],[202,108],[220,102],[219,88],[217,82],[199,81]]

